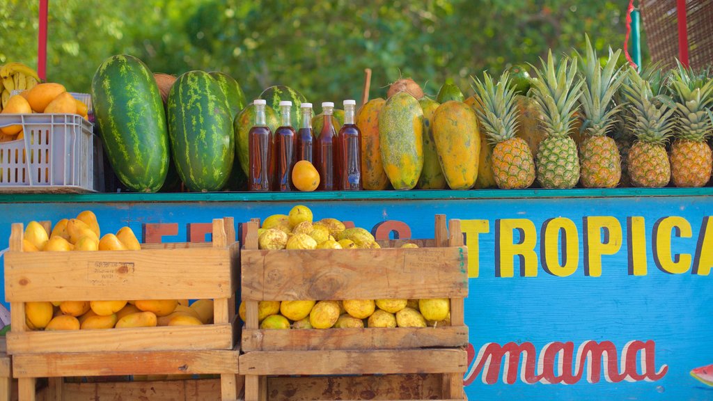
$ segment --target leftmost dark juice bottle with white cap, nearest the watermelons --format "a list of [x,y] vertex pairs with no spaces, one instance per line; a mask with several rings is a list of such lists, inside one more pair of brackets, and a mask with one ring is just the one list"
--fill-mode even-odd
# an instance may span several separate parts
[[265,104],[263,99],[252,102],[255,105],[255,125],[247,133],[250,160],[249,191],[270,191],[272,187],[272,131],[265,122]]

